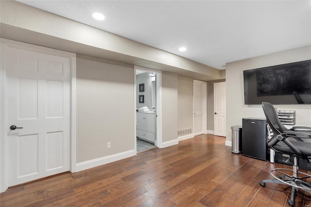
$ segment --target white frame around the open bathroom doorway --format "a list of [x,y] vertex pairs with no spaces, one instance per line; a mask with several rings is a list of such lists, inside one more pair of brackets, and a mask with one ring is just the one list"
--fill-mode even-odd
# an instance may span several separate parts
[[134,155],[137,155],[137,116],[136,116],[136,97],[137,97],[137,78],[136,78],[136,70],[142,70],[146,72],[154,72],[156,75],[155,83],[156,83],[156,143],[155,146],[158,148],[163,148],[162,146],[162,71],[155,69],[148,69],[140,66],[134,66]]

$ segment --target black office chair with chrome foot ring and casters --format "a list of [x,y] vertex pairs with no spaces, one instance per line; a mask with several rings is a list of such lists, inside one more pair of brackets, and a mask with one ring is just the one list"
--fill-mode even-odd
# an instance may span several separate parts
[[[266,116],[267,122],[273,131],[273,137],[268,141],[268,147],[278,153],[287,154],[294,157],[293,170],[291,169],[273,169],[270,173],[274,180],[262,180],[259,184],[265,187],[265,183],[277,183],[292,187],[291,199],[288,200],[290,206],[295,206],[295,196],[297,190],[305,190],[311,193],[311,183],[306,179],[311,175],[299,171],[299,157],[308,160],[311,156],[311,142],[306,142],[307,138],[311,138],[311,127],[293,127],[288,130],[279,121],[276,110],[272,104],[263,102],[262,108]],[[311,141],[311,139],[310,139]],[[289,175],[293,173],[293,175]]]

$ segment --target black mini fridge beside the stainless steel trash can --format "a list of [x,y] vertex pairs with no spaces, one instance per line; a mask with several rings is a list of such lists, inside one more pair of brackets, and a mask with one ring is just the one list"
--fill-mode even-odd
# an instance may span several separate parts
[[242,155],[267,160],[267,122],[260,118],[242,119]]

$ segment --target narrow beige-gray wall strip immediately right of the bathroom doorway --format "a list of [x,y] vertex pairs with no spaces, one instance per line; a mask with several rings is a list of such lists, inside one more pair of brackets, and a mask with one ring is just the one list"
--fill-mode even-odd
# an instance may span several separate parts
[[162,141],[177,139],[177,75],[162,73]]

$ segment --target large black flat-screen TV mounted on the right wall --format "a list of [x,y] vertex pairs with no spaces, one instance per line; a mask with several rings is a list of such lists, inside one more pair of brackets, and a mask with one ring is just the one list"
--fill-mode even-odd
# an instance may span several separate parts
[[245,104],[311,104],[311,60],[243,71]]

